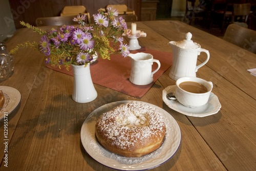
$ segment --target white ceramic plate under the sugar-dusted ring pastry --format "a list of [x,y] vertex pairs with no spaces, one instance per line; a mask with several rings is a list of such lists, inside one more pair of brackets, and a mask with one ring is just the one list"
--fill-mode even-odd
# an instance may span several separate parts
[[[104,112],[108,112],[119,104],[130,102],[117,101],[100,106],[93,111],[83,122],[81,127],[81,142],[87,153],[99,163],[119,170],[146,170],[163,164],[176,153],[181,141],[180,127],[176,120],[168,112],[154,106],[160,113],[163,114],[166,124],[165,140],[160,148],[155,152],[143,157],[122,157],[109,151],[106,151],[96,140],[95,124],[97,118]],[[144,102],[145,103],[145,102]]]

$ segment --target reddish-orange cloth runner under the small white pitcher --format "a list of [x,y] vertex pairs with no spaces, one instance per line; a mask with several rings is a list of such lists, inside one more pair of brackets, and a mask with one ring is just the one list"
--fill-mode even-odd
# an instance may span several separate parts
[[[111,59],[98,58],[98,61],[90,66],[93,83],[99,84],[106,88],[116,90],[118,92],[133,96],[142,97],[156,82],[156,80],[172,65],[173,54],[141,48],[139,50],[130,51],[130,53],[150,53],[154,59],[158,59],[161,63],[160,69],[154,74],[153,82],[145,86],[137,86],[129,81],[131,72],[130,57],[122,57],[120,54],[111,55]],[[65,68],[47,65],[48,68],[55,71],[73,75],[72,67],[67,71]],[[157,68],[154,62],[152,71]]]

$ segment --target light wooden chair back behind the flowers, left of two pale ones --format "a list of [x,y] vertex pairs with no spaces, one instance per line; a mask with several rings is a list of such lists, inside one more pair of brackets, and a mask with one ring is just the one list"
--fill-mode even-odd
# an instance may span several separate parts
[[86,14],[88,23],[90,23],[90,13],[86,11],[84,6],[65,6],[60,13],[60,16],[74,16],[78,14]]

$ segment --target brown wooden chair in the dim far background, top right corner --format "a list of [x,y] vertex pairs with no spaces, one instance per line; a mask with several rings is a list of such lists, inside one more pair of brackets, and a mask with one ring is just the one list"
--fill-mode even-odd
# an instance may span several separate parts
[[233,4],[232,23],[248,28],[247,19],[250,14],[250,3]]

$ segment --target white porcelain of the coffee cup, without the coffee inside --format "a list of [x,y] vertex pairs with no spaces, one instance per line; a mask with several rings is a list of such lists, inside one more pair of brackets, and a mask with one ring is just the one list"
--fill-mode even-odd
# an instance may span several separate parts
[[[180,88],[182,82],[191,81],[202,84],[207,90],[205,93],[191,93]],[[177,100],[188,108],[197,108],[208,102],[210,92],[213,88],[211,81],[206,81],[198,77],[182,77],[176,81],[175,96]]]

